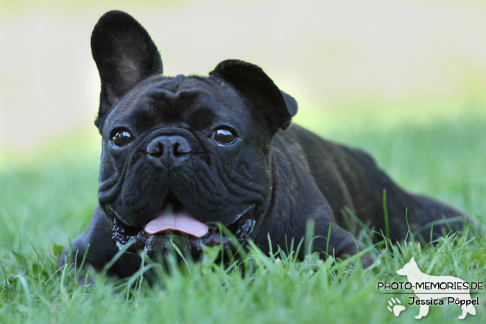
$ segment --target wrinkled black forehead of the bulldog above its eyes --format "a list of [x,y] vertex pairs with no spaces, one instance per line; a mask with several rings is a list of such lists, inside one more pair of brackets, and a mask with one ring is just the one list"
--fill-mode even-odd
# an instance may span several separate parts
[[237,92],[216,78],[153,76],[117,103],[106,126],[135,122],[145,128],[160,123],[206,128],[218,121],[244,126],[251,118],[251,112],[245,107]]

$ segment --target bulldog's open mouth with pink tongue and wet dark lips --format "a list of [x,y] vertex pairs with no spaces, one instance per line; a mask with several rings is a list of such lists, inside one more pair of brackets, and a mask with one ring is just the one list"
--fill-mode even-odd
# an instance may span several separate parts
[[250,205],[235,216],[235,221],[226,226],[230,232],[226,234],[217,222],[203,223],[197,220],[171,193],[165,198],[156,217],[140,228],[126,225],[108,205],[104,209],[112,219],[112,239],[117,247],[124,248],[131,242],[127,252],[143,250],[151,256],[163,252],[174,242],[193,256],[199,255],[203,246],[232,248],[235,244],[243,244],[255,227],[255,205]]

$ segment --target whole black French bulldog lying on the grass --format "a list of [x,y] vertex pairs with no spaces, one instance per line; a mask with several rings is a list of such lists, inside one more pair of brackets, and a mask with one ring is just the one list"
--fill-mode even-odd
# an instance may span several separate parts
[[354,254],[349,231],[357,225],[344,210],[376,230],[389,228],[393,240],[403,239],[408,225],[426,240],[433,222],[433,235],[462,226],[457,219],[444,224],[460,212],[403,191],[366,153],[291,126],[295,99],[260,67],[225,60],[209,76],[163,76],[149,34],[119,11],[101,17],[91,46],[101,78],[95,123],[103,151],[99,207],[73,241],[77,264],[87,244],[86,262],[100,269],[134,241],[135,253],[111,268],[131,275],[140,266],[137,251],[154,255],[174,238],[192,253],[248,239],[268,252],[267,236],[276,250],[302,239],[309,221],[319,235],[314,250]]

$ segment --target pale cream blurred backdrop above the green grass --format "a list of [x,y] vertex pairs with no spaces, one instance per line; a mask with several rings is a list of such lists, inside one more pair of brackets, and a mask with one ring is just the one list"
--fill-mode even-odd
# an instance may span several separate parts
[[90,33],[114,8],[148,29],[167,75],[248,60],[296,97],[296,121],[310,127],[321,121],[308,117],[326,110],[384,108],[380,114],[397,119],[404,118],[398,110],[414,110],[413,118],[435,118],[483,110],[486,101],[484,1],[0,3],[0,147],[15,151],[73,128],[96,133]]

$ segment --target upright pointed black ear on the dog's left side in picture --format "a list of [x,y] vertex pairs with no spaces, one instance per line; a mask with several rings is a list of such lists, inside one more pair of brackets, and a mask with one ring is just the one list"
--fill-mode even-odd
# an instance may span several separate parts
[[149,76],[162,74],[160,53],[149,33],[131,15],[106,12],[91,35],[91,51],[101,79],[99,132],[117,102]]

